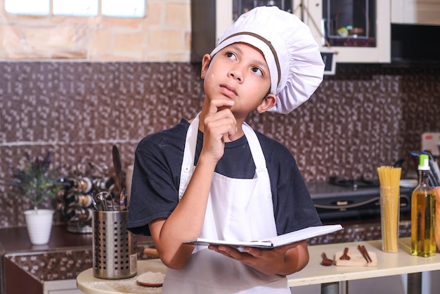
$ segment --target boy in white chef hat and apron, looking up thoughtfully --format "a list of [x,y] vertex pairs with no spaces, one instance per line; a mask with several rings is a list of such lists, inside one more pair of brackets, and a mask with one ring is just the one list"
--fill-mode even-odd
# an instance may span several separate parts
[[254,8],[203,57],[201,112],[139,143],[127,228],[152,236],[169,268],[162,293],[290,293],[285,275],[309,262],[306,241],[245,253],[182,242],[261,240],[321,224],[290,152],[245,119],[290,113],[321,84],[323,67],[295,15]]

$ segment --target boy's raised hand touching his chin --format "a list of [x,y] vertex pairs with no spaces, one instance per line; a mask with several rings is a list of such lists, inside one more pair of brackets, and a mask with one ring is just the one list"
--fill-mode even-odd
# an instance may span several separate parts
[[225,137],[233,140],[237,131],[237,121],[231,110],[234,101],[228,98],[217,98],[209,101],[209,110],[203,121],[203,149],[215,161],[224,154]]

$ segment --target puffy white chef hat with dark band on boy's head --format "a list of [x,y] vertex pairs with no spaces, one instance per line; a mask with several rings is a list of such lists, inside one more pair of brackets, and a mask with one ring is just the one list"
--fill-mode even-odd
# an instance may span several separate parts
[[310,29],[297,16],[276,6],[261,6],[240,15],[216,41],[211,56],[233,43],[261,50],[271,74],[271,93],[278,102],[269,111],[290,113],[323,80],[324,63]]

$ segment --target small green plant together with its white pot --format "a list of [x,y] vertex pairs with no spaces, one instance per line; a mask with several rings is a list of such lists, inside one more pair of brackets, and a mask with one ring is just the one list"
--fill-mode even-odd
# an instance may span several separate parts
[[62,186],[57,185],[58,174],[51,170],[52,155],[48,152],[44,158],[31,160],[28,153],[20,166],[11,174],[12,191],[15,196],[32,203],[32,209],[25,211],[27,232],[34,245],[47,244],[51,236],[53,212],[50,209],[39,209],[40,203],[56,196]]

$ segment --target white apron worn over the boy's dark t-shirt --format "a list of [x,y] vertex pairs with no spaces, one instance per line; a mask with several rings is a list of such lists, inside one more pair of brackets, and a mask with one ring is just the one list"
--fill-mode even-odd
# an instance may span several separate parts
[[[186,134],[179,200],[194,170],[199,117]],[[276,236],[271,185],[257,135],[243,124],[255,162],[254,179],[233,179],[214,173],[200,238],[252,241]],[[290,294],[285,276],[266,275],[232,258],[196,246],[181,270],[167,269],[162,293],[283,293]]]

